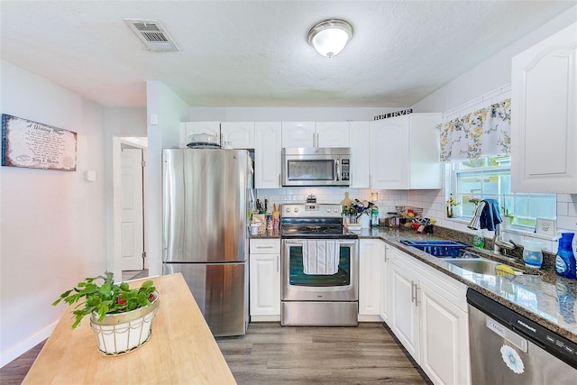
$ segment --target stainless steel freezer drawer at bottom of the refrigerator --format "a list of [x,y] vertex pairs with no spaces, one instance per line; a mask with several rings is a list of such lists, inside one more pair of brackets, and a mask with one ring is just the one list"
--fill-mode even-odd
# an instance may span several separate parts
[[245,334],[248,325],[246,262],[163,264],[163,274],[178,272],[184,276],[213,335]]

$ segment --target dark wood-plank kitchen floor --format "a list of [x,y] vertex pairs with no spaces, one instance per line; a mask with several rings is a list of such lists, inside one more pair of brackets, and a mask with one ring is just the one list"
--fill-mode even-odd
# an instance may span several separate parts
[[[217,343],[239,385],[431,383],[389,330],[376,323],[359,327],[251,324],[246,335],[218,338]],[[43,345],[1,368],[0,384],[22,383]]]

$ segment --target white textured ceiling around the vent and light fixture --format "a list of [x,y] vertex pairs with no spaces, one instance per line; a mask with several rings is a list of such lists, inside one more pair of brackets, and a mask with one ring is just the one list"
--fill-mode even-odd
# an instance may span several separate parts
[[[191,106],[408,106],[574,1],[5,1],[1,59],[107,106],[146,104],[160,80]],[[124,18],[156,19],[152,52]],[[332,58],[306,41],[353,24]]]

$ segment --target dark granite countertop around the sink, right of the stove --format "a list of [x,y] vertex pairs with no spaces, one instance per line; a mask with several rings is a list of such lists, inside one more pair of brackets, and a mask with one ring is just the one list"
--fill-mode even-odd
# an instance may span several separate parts
[[[577,343],[577,321],[575,320],[575,299],[577,298],[577,280],[558,277],[554,271],[538,270],[538,275],[520,275],[501,277],[472,273],[436,258],[414,247],[406,246],[401,239],[426,240],[449,239],[432,234],[416,234],[413,231],[393,228],[374,228],[355,231],[361,239],[378,238],[425,262],[436,270],[444,272],[455,280],[526,316],[539,325]],[[489,251],[479,252],[483,257],[495,259]],[[496,259],[495,259],[496,260]],[[496,260],[498,261],[498,260]],[[522,261],[519,261],[522,263]],[[503,263],[527,270],[523,264],[503,261]],[[533,270],[536,271],[536,270]],[[561,298],[561,299],[560,299]]]

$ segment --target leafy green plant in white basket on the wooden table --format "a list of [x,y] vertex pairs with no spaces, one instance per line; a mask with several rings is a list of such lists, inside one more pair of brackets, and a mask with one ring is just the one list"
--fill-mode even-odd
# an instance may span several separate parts
[[[102,280],[101,284],[96,281]],[[90,327],[96,335],[98,350],[105,355],[132,352],[146,343],[151,335],[152,318],[160,305],[159,293],[151,280],[138,289],[130,289],[128,283],[114,283],[114,274],[87,278],[78,287],[69,289],[52,305],[62,300],[69,305],[80,302],[72,311],[76,316],[72,328],[76,328],[84,316],[90,315]]]

